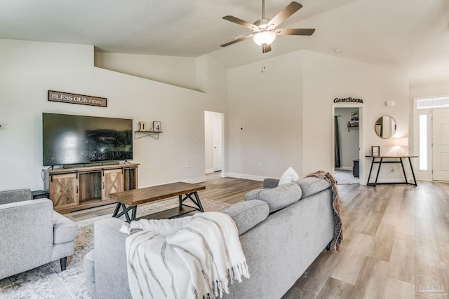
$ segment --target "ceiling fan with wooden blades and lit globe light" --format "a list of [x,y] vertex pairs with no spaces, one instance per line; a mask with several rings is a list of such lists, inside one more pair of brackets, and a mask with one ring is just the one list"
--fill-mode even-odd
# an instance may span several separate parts
[[248,34],[246,36],[242,36],[235,41],[230,41],[229,43],[225,43],[221,45],[221,47],[226,47],[232,45],[233,43],[238,43],[239,41],[243,41],[245,39],[253,38],[253,41],[257,43],[257,45],[262,46],[262,53],[267,53],[272,50],[272,46],[270,44],[276,39],[276,35],[312,35],[315,32],[315,29],[276,29],[283,21],[285,21],[290,15],[296,13],[302,8],[302,5],[293,1],[286,8],[280,11],[274,18],[271,20],[265,18],[265,1],[262,0],[262,19],[257,20],[254,24],[250,22],[246,22],[239,18],[233,17],[232,15],[227,15],[223,17],[223,19],[228,20],[229,22],[236,23],[238,25],[242,25],[246,28],[249,28],[253,31],[253,34]]

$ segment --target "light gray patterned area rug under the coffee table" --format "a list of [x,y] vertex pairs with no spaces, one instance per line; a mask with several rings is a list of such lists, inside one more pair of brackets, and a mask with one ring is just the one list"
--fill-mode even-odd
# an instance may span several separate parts
[[[206,199],[201,199],[201,204],[204,211],[220,211],[229,205]],[[137,216],[173,207],[177,207],[177,198],[139,206]],[[111,216],[105,215],[76,222],[78,235],[75,239],[75,253],[67,258],[67,270],[61,272],[59,261],[55,261],[2,279],[0,280],[0,299],[91,299],[86,291],[83,258],[93,249],[94,223],[109,217]]]

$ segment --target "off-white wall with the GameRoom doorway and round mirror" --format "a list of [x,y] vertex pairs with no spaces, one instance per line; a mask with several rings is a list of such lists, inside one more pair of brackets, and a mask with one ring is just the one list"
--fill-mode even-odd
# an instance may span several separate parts
[[[362,154],[370,153],[371,146],[380,146],[382,154],[391,152],[392,140],[377,137],[374,123],[378,117],[389,115],[396,119],[398,132],[408,134],[408,74],[406,71],[373,64],[356,62],[329,55],[304,51],[304,172],[319,169],[330,171],[333,167],[332,101],[335,97],[363,99]],[[394,100],[396,106],[385,106]],[[340,105],[344,106],[344,104]],[[319,125],[316,125],[316,116]],[[361,161],[361,165],[366,161]],[[369,167],[365,173],[368,177]],[[386,171],[387,169],[382,169]],[[381,178],[400,176],[399,172],[385,172]],[[363,176],[361,176],[363,183]]]

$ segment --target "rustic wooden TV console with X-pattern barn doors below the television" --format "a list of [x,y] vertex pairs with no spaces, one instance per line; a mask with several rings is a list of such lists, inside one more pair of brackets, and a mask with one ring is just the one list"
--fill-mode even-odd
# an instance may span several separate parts
[[138,188],[138,164],[47,169],[45,186],[53,209],[66,214],[115,201],[109,194]]

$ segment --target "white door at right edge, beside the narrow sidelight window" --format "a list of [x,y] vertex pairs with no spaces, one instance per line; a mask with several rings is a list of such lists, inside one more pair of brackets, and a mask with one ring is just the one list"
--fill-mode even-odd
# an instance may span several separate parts
[[449,181],[449,109],[434,109],[434,162],[432,179]]

